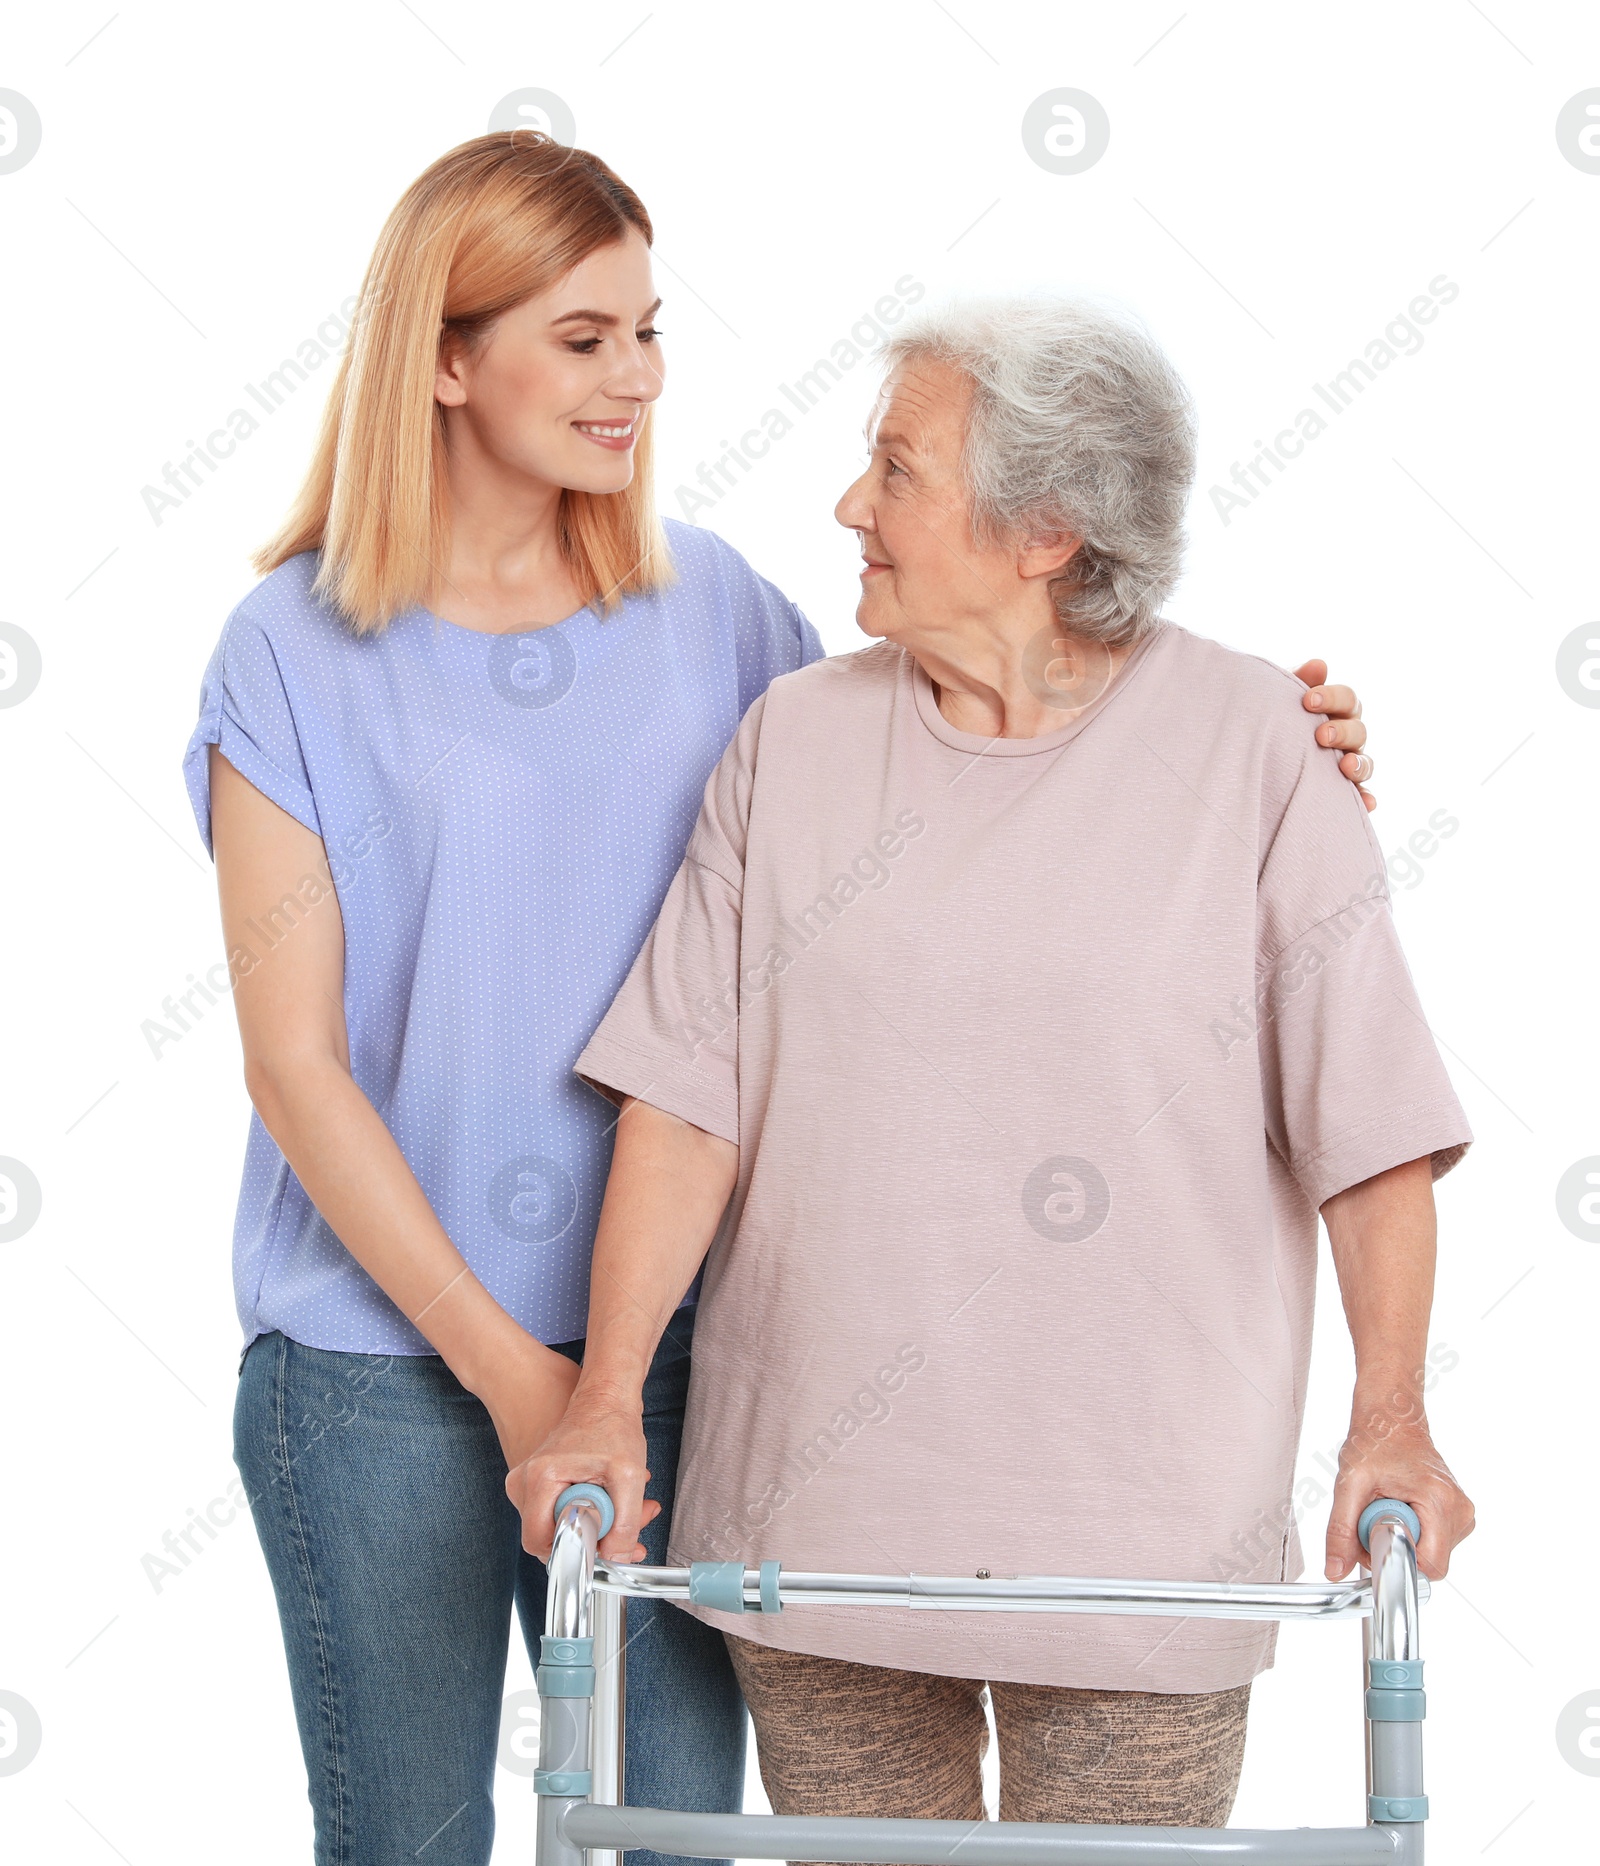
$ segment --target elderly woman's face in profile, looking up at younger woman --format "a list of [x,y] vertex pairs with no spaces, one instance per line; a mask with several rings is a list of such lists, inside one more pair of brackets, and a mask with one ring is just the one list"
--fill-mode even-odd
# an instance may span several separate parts
[[[872,463],[835,508],[857,532],[866,567],[855,620],[866,634],[915,648],[958,629],[993,601],[997,575],[1016,577],[1016,552],[975,545],[961,440],[971,383],[947,364],[917,360],[883,384]],[[1003,578],[1004,580],[1004,578]]]

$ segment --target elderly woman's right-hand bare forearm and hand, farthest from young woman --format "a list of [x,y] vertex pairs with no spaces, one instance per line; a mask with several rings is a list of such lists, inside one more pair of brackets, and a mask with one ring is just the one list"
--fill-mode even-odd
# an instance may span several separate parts
[[1473,1506],[1434,1448],[1423,1409],[1428,1312],[1434,1306],[1434,1174],[1426,1159],[1391,1166],[1322,1207],[1344,1317],[1355,1344],[1350,1435],[1327,1521],[1327,1579],[1363,1560],[1355,1523],[1378,1497],[1411,1504],[1417,1558],[1439,1579],[1473,1530]]

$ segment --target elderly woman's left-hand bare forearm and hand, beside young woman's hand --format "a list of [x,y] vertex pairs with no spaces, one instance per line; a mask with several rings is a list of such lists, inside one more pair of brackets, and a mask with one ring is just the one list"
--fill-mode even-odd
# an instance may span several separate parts
[[556,1497],[601,1483],[616,1523],[601,1543],[614,1562],[642,1560],[642,1392],[650,1358],[717,1235],[739,1149],[648,1101],[627,1099],[594,1239],[582,1375],[560,1426],[506,1478],[523,1511],[523,1547],[547,1556]]

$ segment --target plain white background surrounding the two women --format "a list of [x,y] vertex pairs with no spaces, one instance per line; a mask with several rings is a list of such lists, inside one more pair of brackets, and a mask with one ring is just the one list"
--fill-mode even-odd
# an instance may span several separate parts
[[[1458,821],[1396,879],[1479,1136],[1439,1191],[1432,1340],[1456,1358],[1430,1411],[1482,1526],[1425,1616],[1430,1844],[1445,1862],[1578,1857],[1600,1778],[1563,1758],[1555,1722],[1579,1694],[1600,1704],[1600,1271],[1555,1189],[1600,1153],[1600,711],[1568,698],[1555,657],[1594,614],[1600,175],[1563,157],[1555,118],[1600,84],[1600,24],[1527,0],[648,6],[73,0],[7,28],[0,86],[43,123],[34,160],[0,174],[0,618],[43,653],[37,690],[0,711],[0,1155],[43,1187],[37,1224],[0,1245],[0,1691],[43,1724],[35,1760],[0,1775],[9,1857],[310,1857],[250,1526],[159,1592],[142,1567],[233,1476],[246,1105],[226,1006],[159,1062],[140,1024],[220,957],[177,761],[325,383],[161,524],[142,487],[355,291],[400,190],[523,86],[566,99],[577,140],[655,215],[668,513],[904,274],[930,293],[1109,293],[1200,407],[1171,614],[1286,664],[1322,653],[1357,685],[1385,851],[1436,812]],[[1077,175],[1021,140],[1057,86],[1111,119]],[[1208,489],[1320,407],[1311,384],[1438,274],[1458,297],[1423,347],[1223,524]],[[855,642],[831,506],[868,375],[700,513],[833,649]],[[1342,1437],[1348,1379],[1326,1276],[1309,1470]],[[1305,1525],[1314,1573],[1324,1515]],[[525,1674],[513,1655],[508,1689]],[[530,1784],[498,1780],[495,1857],[530,1859]],[[1234,1821],[1355,1821],[1361,1791],[1355,1631],[1290,1629],[1256,1687]]]

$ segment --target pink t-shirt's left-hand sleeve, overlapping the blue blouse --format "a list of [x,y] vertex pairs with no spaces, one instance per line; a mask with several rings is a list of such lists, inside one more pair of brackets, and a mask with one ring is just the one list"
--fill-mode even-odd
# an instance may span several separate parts
[[764,707],[756,700],[706,782],[655,926],[575,1064],[590,1088],[635,1095],[734,1146],[745,830]]

